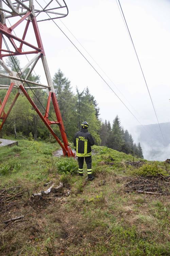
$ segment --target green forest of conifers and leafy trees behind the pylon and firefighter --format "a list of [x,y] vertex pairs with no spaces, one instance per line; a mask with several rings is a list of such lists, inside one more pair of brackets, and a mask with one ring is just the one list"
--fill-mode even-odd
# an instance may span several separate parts
[[[20,67],[19,60],[15,57],[17,65]],[[10,66],[12,70],[15,70],[14,64],[9,57],[6,61],[7,66]],[[5,73],[0,68],[1,73]],[[26,77],[29,72],[29,68],[23,73]],[[39,82],[40,77],[30,75],[29,80]],[[4,77],[0,78],[0,84],[10,84],[10,80]],[[95,97],[90,94],[88,87],[80,91],[76,87],[76,93],[73,93],[71,82],[63,72],[58,69],[53,77],[53,85],[55,94],[60,106],[65,130],[68,134],[69,141],[72,142],[73,136],[77,130],[81,128],[81,123],[86,120],[89,123],[89,132],[95,139],[97,145],[104,145],[113,148],[118,151],[122,151],[126,154],[133,154],[138,157],[143,157],[142,148],[140,143],[136,146],[133,142],[132,135],[127,130],[123,130],[120,125],[118,116],[114,119],[113,125],[109,121],[102,123],[99,118],[99,106]],[[7,110],[15,97],[17,90],[13,90],[8,100],[5,110]],[[46,90],[35,89],[33,92],[29,89],[28,93],[34,103],[37,105],[42,114],[45,115],[45,109],[47,104],[48,95]],[[4,98],[6,90],[0,90],[1,100]],[[55,112],[52,104],[49,110],[49,119],[51,117],[56,120]],[[2,122],[2,121],[0,121]],[[60,137],[59,128],[57,125],[52,125],[52,128],[56,134]],[[52,136],[46,129],[44,123],[41,121],[35,110],[32,108],[28,100],[22,94],[18,97],[11,114],[7,118],[1,136],[3,132],[9,132],[20,136],[29,136],[33,134],[35,140],[45,139],[52,140]]]

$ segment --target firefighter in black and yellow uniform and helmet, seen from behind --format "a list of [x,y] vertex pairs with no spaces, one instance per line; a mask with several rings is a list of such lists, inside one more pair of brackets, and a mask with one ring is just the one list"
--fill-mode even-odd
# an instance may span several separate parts
[[81,124],[81,130],[75,134],[74,148],[78,157],[79,163],[79,175],[83,176],[83,164],[84,158],[87,165],[88,180],[94,180],[94,176],[91,174],[91,146],[95,144],[94,139],[88,132],[88,123],[85,121]]

